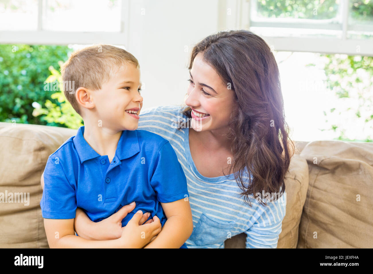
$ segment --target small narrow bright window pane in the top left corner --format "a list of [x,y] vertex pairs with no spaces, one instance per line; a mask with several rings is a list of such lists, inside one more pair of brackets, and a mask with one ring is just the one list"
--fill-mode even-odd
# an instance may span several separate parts
[[0,0],[0,31],[35,31],[37,0]]

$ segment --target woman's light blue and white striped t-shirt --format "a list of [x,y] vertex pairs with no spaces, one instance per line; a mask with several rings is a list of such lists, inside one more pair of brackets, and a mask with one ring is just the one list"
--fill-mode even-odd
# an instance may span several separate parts
[[241,190],[233,174],[202,176],[190,154],[189,128],[179,130],[176,126],[178,121],[188,118],[181,113],[184,107],[172,105],[142,110],[138,129],[168,140],[184,170],[194,227],[186,245],[188,248],[224,248],[226,239],[244,232],[246,248],[276,248],[286,212],[286,195],[283,202],[266,202],[267,207],[252,195],[250,207],[240,197]]

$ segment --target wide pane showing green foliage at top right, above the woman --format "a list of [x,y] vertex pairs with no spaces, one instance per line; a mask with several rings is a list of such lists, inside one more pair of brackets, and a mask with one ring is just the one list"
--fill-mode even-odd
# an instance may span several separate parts
[[253,0],[253,18],[332,19],[340,0]]

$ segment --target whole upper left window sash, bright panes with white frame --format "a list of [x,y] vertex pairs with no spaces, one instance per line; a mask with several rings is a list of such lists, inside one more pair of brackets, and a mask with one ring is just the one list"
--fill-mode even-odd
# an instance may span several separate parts
[[125,45],[128,1],[0,0],[0,43]]

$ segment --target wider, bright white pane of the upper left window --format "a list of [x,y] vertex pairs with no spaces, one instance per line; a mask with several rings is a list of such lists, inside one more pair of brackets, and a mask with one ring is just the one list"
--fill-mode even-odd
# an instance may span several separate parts
[[120,31],[119,0],[48,0],[44,4],[44,30]]

